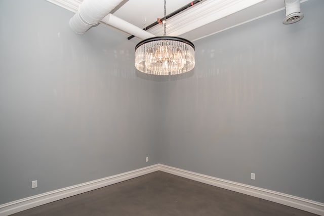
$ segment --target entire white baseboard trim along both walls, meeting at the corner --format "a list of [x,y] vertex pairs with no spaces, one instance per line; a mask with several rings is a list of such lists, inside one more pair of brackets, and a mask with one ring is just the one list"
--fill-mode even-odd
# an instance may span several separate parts
[[0,216],[17,213],[19,211],[50,203],[56,200],[64,199],[80,193],[102,188],[118,182],[123,182],[129,179],[133,179],[135,177],[143,176],[145,174],[149,174],[150,172],[158,170],[168,172],[169,174],[173,174],[176,176],[191,179],[197,182],[213,185],[242,194],[251,195],[254,197],[258,197],[261,199],[269,200],[272,202],[276,202],[279,204],[287,205],[290,207],[298,208],[304,211],[324,216],[324,203],[315,202],[312,200],[292,196],[289,194],[279,193],[263,188],[258,188],[250,185],[231,182],[224,179],[218,179],[215,177],[198,174],[196,172],[187,171],[184,169],[179,169],[164,164],[154,164],[144,168],[124,172],[123,174],[118,174],[115,176],[106,177],[103,179],[98,179],[91,182],[86,182],[83,184],[74,185],[71,187],[62,188],[59,190],[50,191],[47,193],[5,203],[0,205]]

